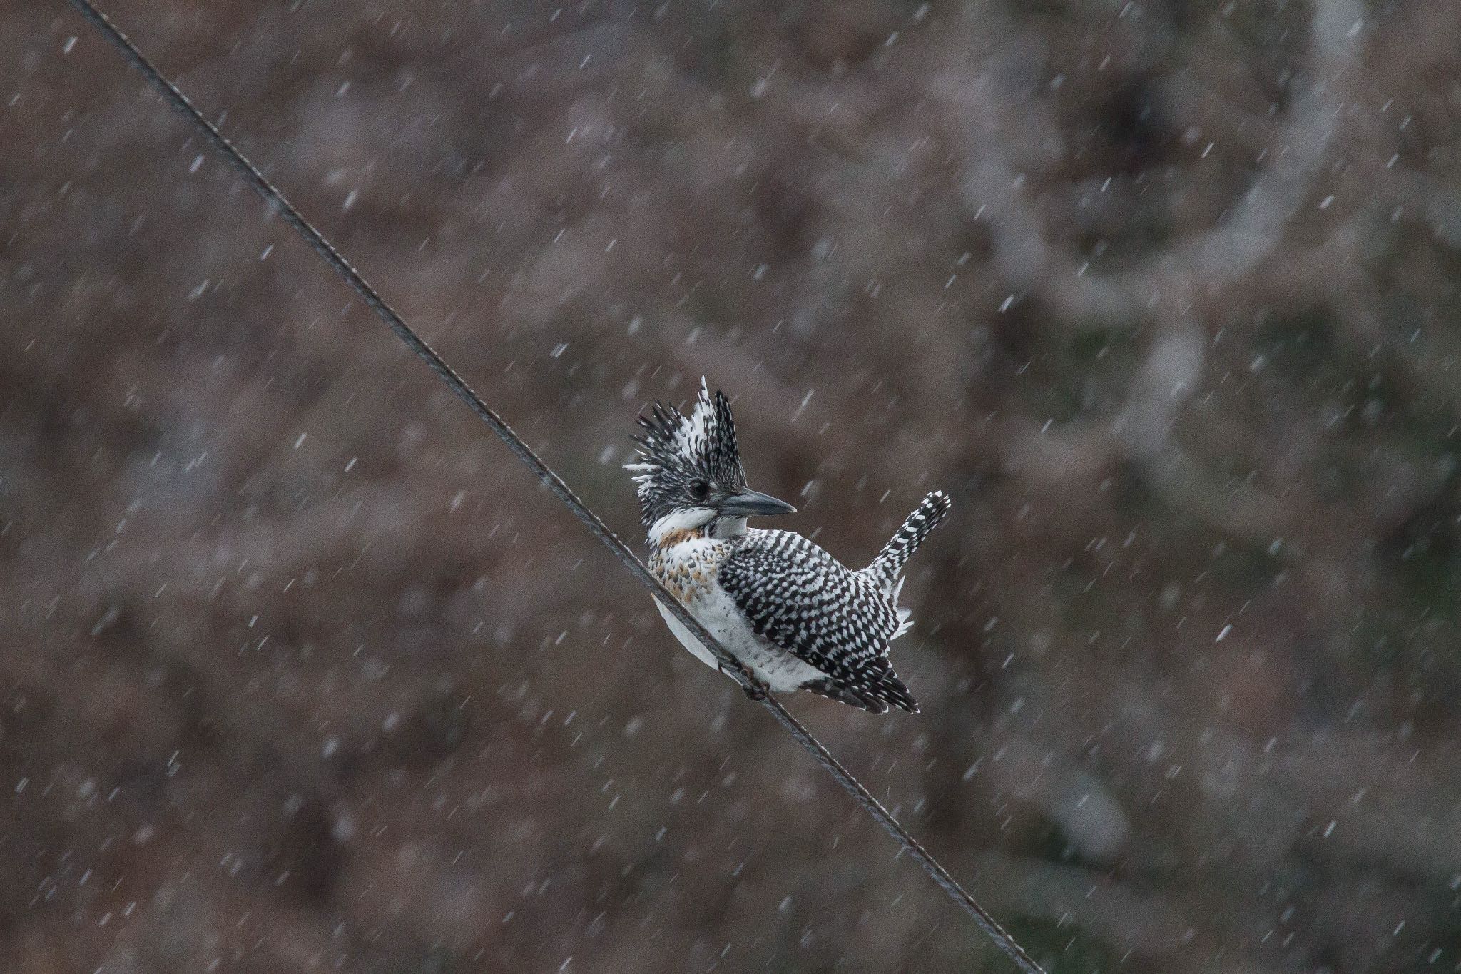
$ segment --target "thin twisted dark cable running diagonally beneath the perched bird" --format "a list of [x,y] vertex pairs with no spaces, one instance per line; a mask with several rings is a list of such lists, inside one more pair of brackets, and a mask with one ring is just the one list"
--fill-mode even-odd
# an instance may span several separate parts
[[320,254],[320,257],[324,258],[335,273],[345,279],[345,282],[361,296],[371,311],[390,326],[390,330],[406,343],[406,348],[415,352],[428,367],[431,367],[431,371],[441,377],[451,391],[456,393],[456,397],[466,403],[472,412],[492,429],[492,432],[501,437],[508,450],[511,450],[513,454],[517,456],[517,459],[522,460],[570,511],[573,511],[574,517],[583,521],[595,537],[608,545],[609,551],[612,551],[615,556],[624,562],[624,567],[628,568],[646,588],[649,588],[650,594],[674,612],[675,618],[679,619],[685,628],[690,629],[694,637],[716,656],[720,662],[720,669],[733,676],[748,695],[754,699],[760,699],[761,705],[771,711],[771,716],[776,717],[777,723],[786,727],[792,737],[811,752],[812,758],[815,758],[817,762],[825,768],[828,774],[831,774],[837,784],[846,789],[846,791],[858,800],[858,805],[861,805],[868,815],[878,822],[878,825],[885,828],[888,834],[893,835],[900,845],[903,845],[904,851],[907,851],[907,854],[912,856],[913,860],[916,860],[919,866],[922,866],[923,870],[934,878],[934,882],[937,882],[974,919],[974,923],[989,935],[989,937],[995,942],[995,946],[1004,951],[1026,974],[1043,974],[1039,964],[1036,964],[1030,955],[1026,954],[1024,948],[1021,948],[1020,943],[999,926],[993,916],[985,910],[979,901],[969,895],[963,886],[958,885],[958,881],[955,881],[954,876],[944,869],[944,866],[934,859],[934,856],[923,848],[916,838],[913,838],[903,824],[899,822],[893,813],[888,812],[882,803],[878,802],[871,791],[868,791],[866,787],[863,787],[861,781],[852,777],[850,771],[842,767],[842,764],[831,756],[831,752],[828,752],[827,748],[823,746],[823,743],[817,740],[817,737],[814,737],[812,733],[806,730],[806,727],[804,727],[802,723],[796,720],[780,701],[766,692],[766,688],[755,680],[755,676],[752,676],[739,660],[726,653],[714,637],[712,637],[706,628],[700,625],[693,615],[690,615],[679,600],[660,584],[649,568],[644,567],[644,562],[641,562],[634,552],[630,551],[628,546],[625,546],[624,542],[621,542],[618,536],[609,530],[609,526],[605,524],[587,504],[579,499],[579,495],[574,494],[567,483],[564,483],[562,478],[554,473],[554,470],[543,463],[542,459],[533,453],[516,432],[513,432],[513,428],[508,426],[501,416],[492,412],[475,391],[472,391],[472,387],[468,386],[450,365],[447,365],[446,359],[437,355],[437,352],[427,345],[427,342],[416,334],[409,324],[406,324],[406,320],[402,318],[394,308],[386,304],[386,299],[380,296],[370,282],[367,282],[365,277],[362,277],[337,250],[335,250],[335,245],[330,244],[330,241],[326,239],[320,231],[314,229],[314,226],[311,226],[310,222],[300,215],[300,210],[297,210],[294,204],[285,199],[283,193],[276,190],[273,184],[269,183],[269,180],[266,180],[264,175],[254,166],[254,164],[251,164],[244,153],[235,149],[234,145],[224,137],[218,127],[193,107],[193,102],[190,102],[187,96],[178,91],[178,88],[169,82],[167,76],[164,76],[162,72],[159,72],[130,39],[127,39],[127,35],[123,34],[105,13],[98,10],[91,0],[70,0],[70,3],[121,51],[123,57],[126,57],[127,61],[148,79],[148,83],[152,85],[152,88],[155,88],[158,93],[172,105],[172,108],[187,118],[187,121],[197,129],[199,134],[218,149],[228,164],[234,166],[234,169],[237,169],[238,174],[243,175],[260,196],[264,197],[264,200],[278,207],[283,221],[292,226],[295,232],[298,232],[300,237],[302,237],[305,242]]

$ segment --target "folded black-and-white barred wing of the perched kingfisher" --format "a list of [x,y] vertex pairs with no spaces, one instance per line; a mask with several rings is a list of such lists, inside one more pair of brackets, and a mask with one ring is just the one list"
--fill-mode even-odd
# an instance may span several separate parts
[[804,689],[885,713],[918,713],[888,663],[900,618],[878,578],[790,532],[747,532],[716,575],[755,634],[823,673]]

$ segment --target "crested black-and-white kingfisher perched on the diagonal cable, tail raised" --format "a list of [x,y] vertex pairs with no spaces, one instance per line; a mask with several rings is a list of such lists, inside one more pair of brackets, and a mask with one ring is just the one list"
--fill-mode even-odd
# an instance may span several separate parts
[[[747,694],[811,691],[875,714],[918,713],[888,644],[912,626],[899,606],[903,567],[948,515],[948,496],[925,496],[871,564],[853,571],[801,534],[747,526],[796,508],[747,486],[730,403],[719,390],[712,396],[704,378],[688,415],[656,402],[638,425],[634,460],[624,466],[637,485],[649,568],[758,680]],[[659,596],[655,605],[687,650],[726,672]]]

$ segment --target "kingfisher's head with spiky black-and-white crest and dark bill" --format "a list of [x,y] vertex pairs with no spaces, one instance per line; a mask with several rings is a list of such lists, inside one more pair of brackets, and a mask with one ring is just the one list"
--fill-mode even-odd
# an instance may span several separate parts
[[730,403],[720,391],[712,399],[706,380],[700,380],[700,394],[688,416],[656,402],[638,423],[644,428],[643,437],[634,437],[638,457],[624,469],[638,483],[640,517],[652,540],[706,526],[735,533],[754,514],[796,510],[747,489]]

